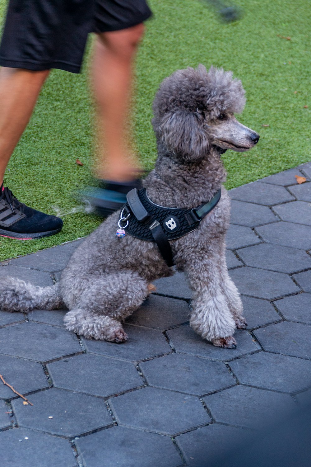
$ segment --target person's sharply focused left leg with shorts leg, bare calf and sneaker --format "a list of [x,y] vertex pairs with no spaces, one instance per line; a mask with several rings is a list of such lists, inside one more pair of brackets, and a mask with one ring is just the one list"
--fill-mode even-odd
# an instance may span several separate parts
[[[48,70],[80,70],[95,2],[79,0],[75,8],[67,3],[26,1],[19,2],[18,8],[16,0],[8,3],[0,43],[0,236],[29,240],[62,229],[62,219],[21,203],[1,183]],[[10,177],[7,179],[9,182]],[[20,183],[24,183],[22,176]]]

